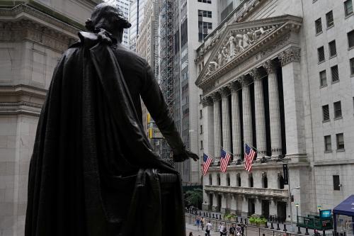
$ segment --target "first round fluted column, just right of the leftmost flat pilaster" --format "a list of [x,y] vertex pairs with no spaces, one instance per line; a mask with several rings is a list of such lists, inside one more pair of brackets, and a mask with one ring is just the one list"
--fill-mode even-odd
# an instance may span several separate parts
[[222,141],[222,127],[221,127],[221,113],[220,113],[220,99],[221,96],[219,92],[212,94],[212,101],[214,103],[214,154],[215,154],[215,164],[219,162],[220,159],[220,147]]

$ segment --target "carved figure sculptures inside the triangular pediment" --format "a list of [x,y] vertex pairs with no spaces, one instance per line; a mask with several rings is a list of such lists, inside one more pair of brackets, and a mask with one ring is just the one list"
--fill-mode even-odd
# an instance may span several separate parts
[[210,60],[206,75],[210,75],[217,69],[230,62],[234,57],[246,50],[248,47],[263,38],[275,26],[262,26],[257,29],[233,30],[225,38],[216,55]]

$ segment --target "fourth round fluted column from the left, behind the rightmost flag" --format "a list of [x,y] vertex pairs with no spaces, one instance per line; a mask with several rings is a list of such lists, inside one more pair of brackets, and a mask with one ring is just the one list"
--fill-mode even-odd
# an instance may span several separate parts
[[242,84],[242,117],[244,122],[244,143],[253,146],[253,133],[252,133],[252,108],[251,108],[251,95],[250,95],[250,79],[242,76],[239,80]]

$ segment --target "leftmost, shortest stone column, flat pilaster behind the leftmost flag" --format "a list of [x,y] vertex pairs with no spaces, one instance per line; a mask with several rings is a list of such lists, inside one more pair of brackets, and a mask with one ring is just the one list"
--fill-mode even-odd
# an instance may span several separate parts
[[202,124],[203,124],[203,140],[204,150],[207,155],[215,157],[214,152],[214,108],[212,106],[212,98],[205,97],[202,100]]

